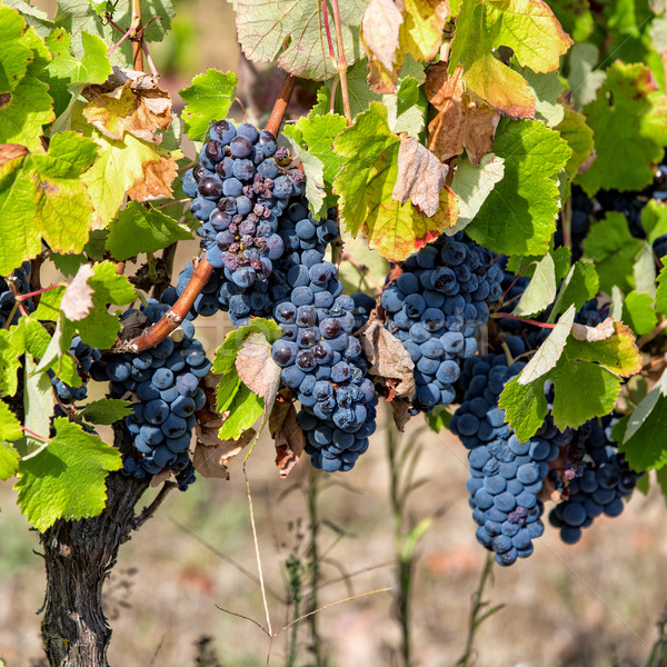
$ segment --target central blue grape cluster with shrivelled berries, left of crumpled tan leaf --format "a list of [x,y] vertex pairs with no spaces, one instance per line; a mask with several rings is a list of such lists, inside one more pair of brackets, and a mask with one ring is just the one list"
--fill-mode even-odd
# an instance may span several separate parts
[[361,344],[352,335],[357,306],[342,293],[331,262],[320,258],[292,268],[298,280],[289,300],[273,311],[285,335],[273,344],[272,357],[282,369],[281,381],[301,404],[297,421],[312,465],[329,472],[349,470],[368,448],[378,400],[366,377]]

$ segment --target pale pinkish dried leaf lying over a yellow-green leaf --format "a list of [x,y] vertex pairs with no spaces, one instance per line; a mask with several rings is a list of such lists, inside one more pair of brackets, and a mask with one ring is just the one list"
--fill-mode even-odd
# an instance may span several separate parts
[[448,167],[412,137],[401,137],[398,149],[398,176],[391,197],[400,203],[408,199],[419,212],[432,218],[440,208],[440,190]]

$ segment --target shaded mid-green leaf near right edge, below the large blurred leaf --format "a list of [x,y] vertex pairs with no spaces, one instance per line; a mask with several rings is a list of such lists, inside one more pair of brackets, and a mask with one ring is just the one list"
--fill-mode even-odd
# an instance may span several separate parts
[[584,239],[584,255],[595,261],[600,290],[608,295],[614,286],[633,289],[633,267],[640,250],[641,241],[630,235],[626,217],[616,211],[594,225]]

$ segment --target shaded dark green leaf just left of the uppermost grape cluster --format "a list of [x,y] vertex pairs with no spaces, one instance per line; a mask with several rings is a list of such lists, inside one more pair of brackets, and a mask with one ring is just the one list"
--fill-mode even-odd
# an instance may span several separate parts
[[109,227],[107,250],[118,261],[192,238],[190,230],[153,208],[130,201]]

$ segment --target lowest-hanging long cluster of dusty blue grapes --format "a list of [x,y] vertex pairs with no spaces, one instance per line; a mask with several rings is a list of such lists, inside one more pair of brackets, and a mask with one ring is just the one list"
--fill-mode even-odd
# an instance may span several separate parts
[[[516,347],[520,339],[510,345]],[[466,395],[449,428],[469,449],[468,464],[472,518],[477,540],[495,552],[500,565],[532,554],[532,540],[544,532],[544,504],[538,497],[560,447],[571,431],[560,434],[547,422],[534,438],[521,442],[505,424],[498,397],[525,364],[507,366],[505,355],[486,355],[464,364]]]

